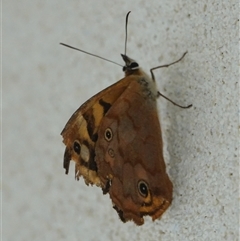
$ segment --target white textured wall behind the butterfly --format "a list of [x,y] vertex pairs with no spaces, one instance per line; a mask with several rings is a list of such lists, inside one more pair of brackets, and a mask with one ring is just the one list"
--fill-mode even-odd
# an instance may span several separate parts
[[[155,72],[174,200],[161,220],[123,224],[99,188],[62,168],[60,132],[121,68]],[[3,240],[238,240],[238,1],[3,1]]]

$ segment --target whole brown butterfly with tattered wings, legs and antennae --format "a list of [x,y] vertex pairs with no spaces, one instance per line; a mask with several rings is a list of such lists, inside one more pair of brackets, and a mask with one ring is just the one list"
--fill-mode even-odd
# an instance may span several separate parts
[[125,77],[80,106],[61,135],[66,145],[66,174],[70,160],[75,161],[77,179],[83,176],[87,185],[95,184],[109,193],[123,222],[142,225],[143,216],[155,220],[165,212],[173,189],[163,159],[156,103],[163,95],[156,88],[153,70],[179,62],[186,53],[171,64],[152,68],[150,77],[126,55],[126,43],[127,34],[122,54]]

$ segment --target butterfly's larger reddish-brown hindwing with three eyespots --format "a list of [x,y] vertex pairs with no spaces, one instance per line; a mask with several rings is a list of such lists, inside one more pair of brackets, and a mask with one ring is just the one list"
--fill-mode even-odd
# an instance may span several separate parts
[[172,201],[163,159],[156,97],[141,77],[132,81],[102,118],[96,142],[98,176],[122,221],[143,224],[160,217]]

